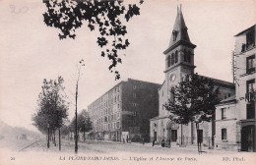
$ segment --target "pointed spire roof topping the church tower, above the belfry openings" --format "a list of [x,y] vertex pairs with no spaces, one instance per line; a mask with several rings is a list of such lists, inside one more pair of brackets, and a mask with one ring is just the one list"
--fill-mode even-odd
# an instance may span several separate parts
[[[167,50],[171,50],[176,45],[179,45],[180,43],[186,43],[188,46],[192,46],[193,48],[196,47],[193,43],[191,43],[189,39],[189,35],[187,32],[187,27],[183,18],[183,14],[181,11],[181,5],[180,7],[177,7],[177,16],[176,20],[173,26],[173,30],[171,32],[171,37],[169,41],[169,45]],[[165,50],[163,53],[166,54],[168,51]],[[166,52],[167,51],[167,52]]]

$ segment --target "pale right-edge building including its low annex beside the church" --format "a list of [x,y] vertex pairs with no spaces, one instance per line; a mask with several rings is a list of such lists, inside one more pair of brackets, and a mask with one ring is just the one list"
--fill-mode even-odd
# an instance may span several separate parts
[[255,120],[256,25],[235,35],[235,97],[217,106],[217,144],[241,151],[256,151]]

